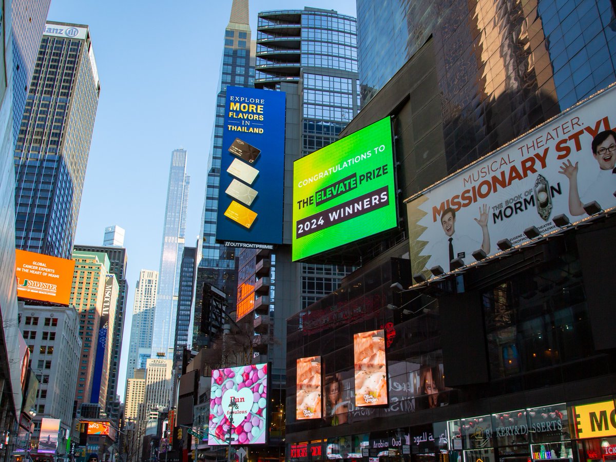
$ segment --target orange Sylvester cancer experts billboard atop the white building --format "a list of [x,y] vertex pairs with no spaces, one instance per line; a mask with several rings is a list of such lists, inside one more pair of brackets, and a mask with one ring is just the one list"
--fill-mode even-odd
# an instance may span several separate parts
[[15,251],[17,296],[68,305],[75,262],[40,253]]

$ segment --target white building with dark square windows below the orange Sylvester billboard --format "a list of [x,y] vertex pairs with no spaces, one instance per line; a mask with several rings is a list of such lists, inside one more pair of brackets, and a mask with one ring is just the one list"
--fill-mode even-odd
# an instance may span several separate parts
[[30,349],[31,368],[40,381],[34,403],[33,440],[38,439],[43,417],[60,419],[60,438],[66,439],[73,421],[81,355],[78,313],[72,306],[20,302],[19,319],[19,328]]

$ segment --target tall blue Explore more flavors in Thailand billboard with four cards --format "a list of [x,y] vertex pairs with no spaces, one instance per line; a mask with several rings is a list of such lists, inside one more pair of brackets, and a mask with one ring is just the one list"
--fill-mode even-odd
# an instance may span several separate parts
[[227,87],[217,242],[282,243],[285,102],[284,92]]

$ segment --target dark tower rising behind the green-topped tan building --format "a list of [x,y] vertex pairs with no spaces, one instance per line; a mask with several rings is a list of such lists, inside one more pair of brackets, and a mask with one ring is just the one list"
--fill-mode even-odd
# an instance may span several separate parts
[[115,276],[118,283],[118,296],[115,306],[115,318],[113,319],[113,333],[111,334],[111,355],[109,363],[109,379],[107,384],[107,416],[112,421],[117,421],[120,417],[120,401],[118,400],[118,368],[120,367],[120,352],[122,350],[122,339],[124,329],[124,316],[126,315],[126,267],[128,258],[126,249],[121,246],[89,246],[75,245],[78,251],[99,252],[107,254],[109,259],[109,272]]

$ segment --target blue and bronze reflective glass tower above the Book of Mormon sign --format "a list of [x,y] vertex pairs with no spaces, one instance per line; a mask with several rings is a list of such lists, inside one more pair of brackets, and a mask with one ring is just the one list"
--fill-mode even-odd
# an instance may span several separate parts
[[609,0],[358,0],[357,22],[363,105],[433,41],[448,172],[616,80]]

